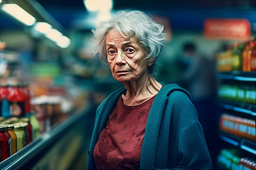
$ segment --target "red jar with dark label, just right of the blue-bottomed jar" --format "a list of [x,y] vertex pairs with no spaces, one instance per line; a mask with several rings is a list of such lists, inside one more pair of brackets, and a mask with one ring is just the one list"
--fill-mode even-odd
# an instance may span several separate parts
[[25,116],[25,94],[20,84],[11,84],[8,96],[9,108],[12,117]]

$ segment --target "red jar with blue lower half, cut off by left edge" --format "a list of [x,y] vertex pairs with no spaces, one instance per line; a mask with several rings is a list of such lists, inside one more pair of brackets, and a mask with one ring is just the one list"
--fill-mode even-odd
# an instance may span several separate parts
[[0,114],[2,117],[8,118],[11,117],[9,105],[8,105],[8,96],[9,96],[9,86],[6,83],[0,84]]

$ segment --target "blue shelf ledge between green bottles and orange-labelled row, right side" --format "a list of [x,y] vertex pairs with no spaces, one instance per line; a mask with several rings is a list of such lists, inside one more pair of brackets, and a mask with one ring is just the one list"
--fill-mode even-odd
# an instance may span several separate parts
[[[226,104],[227,103],[227,104]],[[232,103],[229,104],[229,103]],[[245,113],[248,115],[252,115],[252,116],[256,116],[256,106],[252,105],[252,104],[242,104],[240,102],[228,102],[228,101],[224,101],[222,100],[221,103],[219,104],[222,108],[225,108],[227,110],[233,110],[236,112],[240,112],[240,113]]]

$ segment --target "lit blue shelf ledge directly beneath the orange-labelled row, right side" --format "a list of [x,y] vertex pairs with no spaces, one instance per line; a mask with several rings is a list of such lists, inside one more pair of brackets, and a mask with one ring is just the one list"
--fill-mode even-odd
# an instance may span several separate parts
[[256,155],[256,143],[253,141],[238,137],[236,135],[232,135],[222,130],[219,130],[219,137],[220,139],[222,139],[223,141],[226,141],[231,145],[238,146],[241,149]]

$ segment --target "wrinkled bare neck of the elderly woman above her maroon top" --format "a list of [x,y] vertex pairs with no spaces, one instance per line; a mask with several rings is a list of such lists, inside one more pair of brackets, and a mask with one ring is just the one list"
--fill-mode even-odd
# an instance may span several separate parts
[[150,75],[144,76],[139,80],[126,82],[124,85],[127,91],[121,97],[127,106],[136,106],[144,103],[155,96],[162,88],[162,84]]

